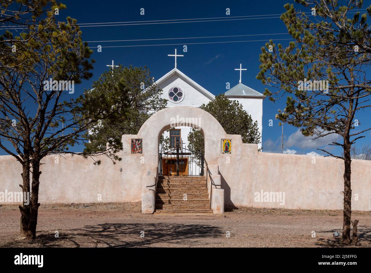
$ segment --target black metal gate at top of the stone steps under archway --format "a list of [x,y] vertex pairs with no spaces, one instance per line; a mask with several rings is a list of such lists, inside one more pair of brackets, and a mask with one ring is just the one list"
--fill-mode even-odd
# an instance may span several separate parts
[[160,147],[159,175],[204,176],[204,155],[187,149],[182,140],[176,141],[175,147],[165,150]]

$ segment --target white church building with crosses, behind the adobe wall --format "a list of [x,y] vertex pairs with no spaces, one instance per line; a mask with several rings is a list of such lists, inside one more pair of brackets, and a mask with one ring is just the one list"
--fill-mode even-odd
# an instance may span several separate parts
[[[204,87],[197,84],[197,82],[177,69],[177,57],[183,55],[177,55],[175,49],[175,55],[168,56],[175,57],[175,68],[155,82],[157,87],[162,90],[161,98],[167,100],[166,107],[200,107],[202,104],[207,104],[215,99],[215,96],[211,92],[207,91]],[[236,100],[242,104],[243,110],[251,115],[253,121],[257,121],[260,133],[260,143],[258,147],[260,149],[262,147],[263,99],[265,96],[242,84],[241,72],[247,69],[242,69],[242,65],[240,65],[240,68],[236,68],[235,70],[240,71],[240,81],[237,85],[226,91],[224,95],[229,98],[229,100]],[[170,146],[172,148],[175,147],[177,139],[182,139],[183,143],[188,146],[188,134],[190,131],[191,127],[175,127],[170,129],[170,131],[165,131],[164,137],[169,137]]]

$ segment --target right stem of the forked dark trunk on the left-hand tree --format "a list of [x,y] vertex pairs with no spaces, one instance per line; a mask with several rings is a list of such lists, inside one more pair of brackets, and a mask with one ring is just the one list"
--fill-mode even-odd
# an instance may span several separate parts
[[40,183],[40,160],[32,162],[32,196],[30,198],[30,215],[28,222],[28,239],[36,238],[37,213],[39,209],[39,183]]

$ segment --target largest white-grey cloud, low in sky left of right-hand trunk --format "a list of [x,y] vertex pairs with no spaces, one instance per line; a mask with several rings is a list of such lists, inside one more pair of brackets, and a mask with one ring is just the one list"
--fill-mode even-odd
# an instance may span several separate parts
[[340,136],[338,134],[329,134],[319,139],[313,140],[313,137],[305,137],[302,132],[298,129],[295,133],[290,134],[289,138],[286,140],[286,147],[299,147],[301,149],[308,148],[319,148],[339,140]]

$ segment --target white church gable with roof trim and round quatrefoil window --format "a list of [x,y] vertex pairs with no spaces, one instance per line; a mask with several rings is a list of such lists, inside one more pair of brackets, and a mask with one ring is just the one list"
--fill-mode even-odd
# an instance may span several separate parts
[[156,84],[162,89],[161,97],[168,101],[167,107],[179,105],[200,107],[215,98],[176,68],[156,81]]

